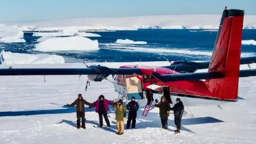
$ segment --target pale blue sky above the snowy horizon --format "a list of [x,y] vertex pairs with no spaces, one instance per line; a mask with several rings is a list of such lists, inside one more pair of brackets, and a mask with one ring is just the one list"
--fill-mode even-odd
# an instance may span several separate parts
[[221,14],[224,6],[256,15],[255,0],[0,0],[0,23],[88,17]]

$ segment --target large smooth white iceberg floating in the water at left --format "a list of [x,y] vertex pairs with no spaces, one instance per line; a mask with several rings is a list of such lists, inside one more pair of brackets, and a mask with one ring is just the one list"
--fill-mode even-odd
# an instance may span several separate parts
[[36,51],[95,51],[99,49],[97,40],[91,40],[82,36],[69,36],[60,38],[49,38],[36,44]]

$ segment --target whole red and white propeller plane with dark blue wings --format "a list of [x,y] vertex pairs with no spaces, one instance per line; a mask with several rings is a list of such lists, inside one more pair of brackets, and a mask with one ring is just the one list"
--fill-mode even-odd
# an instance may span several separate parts
[[[127,65],[108,68],[93,65],[84,69],[0,69],[0,75],[88,75],[102,81],[116,75],[117,92],[128,99],[161,93],[170,103],[180,98],[185,106],[222,104],[237,101],[239,77],[256,76],[256,69],[240,71],[240,64],[250,64],[255,57],[240,58],[244,10],[224,10],[210,62],[176,61],[166,67]],[[207,72],[194,73],[197,69]],[[136,74],[136,75],[135,75]]]

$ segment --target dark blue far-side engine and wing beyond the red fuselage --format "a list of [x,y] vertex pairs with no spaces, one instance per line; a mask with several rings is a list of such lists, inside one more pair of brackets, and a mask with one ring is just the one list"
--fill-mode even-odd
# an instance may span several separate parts
[[[256,62],[256,56],[241,58],[240,64],[252,64]],[[180,73],[194,73],[198,69],[208,69],[209,68],[209,61],[205,62],[191,62],[186,60],[178,60],[172,63],[170,66],[165,66],[167,69],[172,69],[174,71]]]

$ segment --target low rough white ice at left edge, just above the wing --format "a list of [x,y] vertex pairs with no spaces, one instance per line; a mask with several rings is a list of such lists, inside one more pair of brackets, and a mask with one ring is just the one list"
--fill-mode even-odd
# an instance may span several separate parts
[[1,51],[1,64],[60,64],[65,63],[62,56],[49,54],[25,54]]

